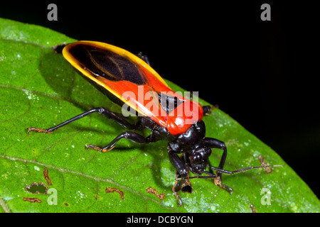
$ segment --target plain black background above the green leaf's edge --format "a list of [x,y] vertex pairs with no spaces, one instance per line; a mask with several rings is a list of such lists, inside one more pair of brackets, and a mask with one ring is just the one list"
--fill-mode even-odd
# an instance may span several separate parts
[[[0,17],[143,52],[162,77],[199,92],[270,145],[319,197],[313,2],[128,2],[6,2]],[[58,21],[47,19],[50,3],[58,6]],[[271,6],[271,21],[260,19],[263,3]]]

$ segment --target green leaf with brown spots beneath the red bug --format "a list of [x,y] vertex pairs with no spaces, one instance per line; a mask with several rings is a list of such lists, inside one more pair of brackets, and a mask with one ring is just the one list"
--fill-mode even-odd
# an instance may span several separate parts
[[[164,141],[139,145],[121,140],[108,153],[86,150],[85,143],[103,146],[125,131],[99,114],[52,134],[28,135],[26,128],[50,128],[92,107],[121,111],[52,49],[73,41],[47,28],[0,19],[1,211],[319,212],[319,199],[294,170],[220,109],[204,121],[207,136],[228,146],[226,170],[258,166],[259,155],[268,165],[284,167],[274,167],[270,174],[258,169],[223,175],[223,184],[234,189],[231,195],[212,179],[192,179],[193,193],[180,193],[183,206],[172,192],[175,170]],[[218,166],[221,154],[213,150],[211,165]],[[124,199],[105,192],[107,187],[121,190]],[[166,194],[164,200],[146,192],[149,187]],[[55,198],[57,204],[52,204]]]

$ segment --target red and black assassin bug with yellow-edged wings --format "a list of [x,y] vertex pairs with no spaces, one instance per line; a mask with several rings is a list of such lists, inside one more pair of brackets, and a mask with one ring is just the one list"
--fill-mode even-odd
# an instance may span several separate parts
[[[120,106],[127,104],[134,109],[139,115],[138,121],[134,124],[129,123],[112,111],[98,107],[70,118],[53,128],[28,128],[28,133],[30,131],[53,133],[68,123],[97,112],[131,131],[121,133],[103,148],[88,144],[87,148],[105,153],[114,148],[114,145],[122,138],[136,143],[167,140],[169,160],[177,170],[173,191],[179,205],[182,205],[182,201],[178,196],[178,191],[192,192],[189,179],[194,177],[189,177],[190,171],[198,178],[213,178],[215,184],[232,193],[233,189],[221,183],[222,174],[232,175],[245,170],[266,167],[247,167],[233,172],[223,170],[227,147],[223,141],[206,137],[206,126],[202,121],[203,115],[210,112],[210,106],[201,106],[198,102],[173,92],[164,79],[150,67],[146,56],[133,55],[114,45],[92,41],[78,41],[66,45],[63,48],[63,56],[85,79],[112,101]],[[141,94],[144,98],[148,96],[151,102],[144,104],[144,98],[142,100],[139,98]],[[151,135],[145,138],[133,132],[143,128],[149,128]],[[213,167],[208,163],[211,148],[223,150],[218,167]],[[182,156],[179,157],[178,154]],[[215,174],[206,171],[207,167],[215,170]]]

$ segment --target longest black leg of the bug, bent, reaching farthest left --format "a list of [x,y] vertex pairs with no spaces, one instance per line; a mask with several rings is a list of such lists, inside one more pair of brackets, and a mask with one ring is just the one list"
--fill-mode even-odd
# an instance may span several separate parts
[[67,125],[68,123],[71,123],[73,121],[77,121],[80,118],[83,118],[89,114],[92,113],[99,113],[102,114],[103,116],[106,116],[107,118],[110,118],[112,121],[115,121],[117,123],[119,123],[120,125],[124,126],[125,128],[128,129],[136,129],[136,127],[134,125],[132,125],[131,123],[129,123],[128,121],[124,120],[123,118],[117,116],[116,114],[114,114],[112,111],[105,109],[104,107],[97,107],[95,109],[90,109],[89,111],[85,111],[85,113],[79,114],[78,116],[75,116],[73,118],[70,118],[67,121],[64,121],[63,123],[58,124],[58,126],[52,127],[52,128],[48,128],[48,129],[43,129],[43,128],[28,128],[28,133],[30,131],[36,131],[38,133],[53,133],[53,131],[57,130],[58,128],[61,128],[65,125]]

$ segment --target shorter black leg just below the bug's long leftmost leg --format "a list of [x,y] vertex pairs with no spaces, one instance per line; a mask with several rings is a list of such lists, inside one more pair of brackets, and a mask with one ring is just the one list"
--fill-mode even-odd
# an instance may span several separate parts
[[151,140],[151,137],[149,137],[149,136],[144,138],[144,136],[140,135],[139,133],[127,131],[127,132],[124,132],[124,133],[121,133],[120,135],[118,135],[116,138],[114,138],[114,140],[111,141],[111,143],[106,145],[104,148],[100,148],[100,147],[97,147],[95,145],[90,145],[90,144],[87,144],[86,146],[87,146],[87,148],[99,150],[99,151],[102,151],[103,153],[106,153],[107,151],[114,148],[116,143],[119,140],[121,140],[122,138],[125,138],[127,140],[132,140],[135,143],[152,143],[153,142]]

